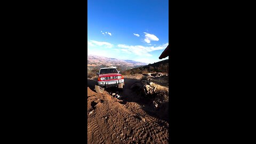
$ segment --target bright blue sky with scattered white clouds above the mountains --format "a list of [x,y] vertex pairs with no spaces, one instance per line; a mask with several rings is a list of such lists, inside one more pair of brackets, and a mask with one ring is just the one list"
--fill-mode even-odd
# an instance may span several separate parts
[[161,61],[158,58],[169,44],[167,0],[87,3],[88,54],[146,63]]

